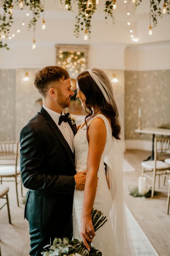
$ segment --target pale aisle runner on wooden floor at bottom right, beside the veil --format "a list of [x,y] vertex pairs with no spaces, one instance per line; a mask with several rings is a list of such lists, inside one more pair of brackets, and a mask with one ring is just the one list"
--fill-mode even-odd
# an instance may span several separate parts
[[127,218],[130,226],[133,247],[136,256],[159,256],[149,239],[133,217],[130,210],[126,207]]

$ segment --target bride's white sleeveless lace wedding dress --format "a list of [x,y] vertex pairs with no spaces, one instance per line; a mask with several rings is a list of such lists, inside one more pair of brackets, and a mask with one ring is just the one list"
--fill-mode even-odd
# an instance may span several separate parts
[[[113,230],[111,227],[110,210],[112,205],[112,196],[108,188],[108,183],[105,175],[104,157],[108,154],[111,148],[112,132],[111,126],[108,119],[102,115],[98,114],[94,118],[100,117],[105,122],[105,127],[107,131],[107,138],[105,149],[103,151],[99,170],[98,170],[98,184],[96,191],[96,198],[94,201],[94,209],[103,212],[108,221],[96,231],[96,236],[93,239],[92,246],[102,252],[102,256],[113,256],[115,245],[113,244]],[[93,119],[94,119],[93,118]],[[88,122],[88,125],[93,120]],[[99,138],[100,140],[100,138]],[[80,127],[77,134],[74,137],[74,148],[75,148],[75,164],[77,172],[85,171],[87,169],[87,159],[88,159],[88,140],[87,140],[87,129],[86,125],[82,128]],[[81,227],[81,213],[83,205],[84,192],[75,190],[74,192],[74,203],[73,203],[73,238],[82,240],[80,235]]]

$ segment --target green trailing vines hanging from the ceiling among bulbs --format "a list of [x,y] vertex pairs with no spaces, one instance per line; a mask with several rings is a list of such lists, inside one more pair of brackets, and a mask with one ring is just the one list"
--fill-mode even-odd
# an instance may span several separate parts
[[[40,13],[43,12],[41,0],[1,0],[3,14],[0,15],[0,48],[8,48],[7,43],[3,42],[3,39],[7,39],[10,33],[11,25],[13,23],[13,7],[14,5],[20,6],[23,9],[24,6],[28,6],[32,12],[32,19],[28,24],[28,30],[31,27],[36,28],[37,21],[40,17]],[[68,11],[72,10],[73,4],[77,3],[78,13],[76,15],[76,24],[74,29],[74,35],[78,38],[80,31],[85,30],[86,35],[91,34],[91,18],[96,11],[96,0],[59,0],[59,2],[65,5]],[[131,0],[127,0],[130,3]],[[21,7],[21,3],[23,7]],[[113,17],[113,6],[116,6],[116,0],[105,0],[105,19]],[[142,0],[136,0],[135,5],[139,6]],[[162,17],[162,7],[164,13],[170,14],[170,0],[164,0],[164,5],[160,7],[161,0],[150,0],[150,17],[152,17],[153,27],[157,25],[158,17]],[[119,2],[118,2],[119,4]],[[86,39],[87,40],[87,39]]]

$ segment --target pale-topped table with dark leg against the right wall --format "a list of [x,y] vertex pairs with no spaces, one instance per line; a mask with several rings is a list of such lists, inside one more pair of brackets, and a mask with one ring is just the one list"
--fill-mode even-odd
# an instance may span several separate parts
[[170,136],[170,129],[164,129],[164,128],[152,128],[147,127],[143,129],[136,129],[135,132],[137,133],[143,133],[143,134],[152,134],[152,155],[147,158],[147,160],[153,160],[154,159],[154,139],[155,135],[165,135]]

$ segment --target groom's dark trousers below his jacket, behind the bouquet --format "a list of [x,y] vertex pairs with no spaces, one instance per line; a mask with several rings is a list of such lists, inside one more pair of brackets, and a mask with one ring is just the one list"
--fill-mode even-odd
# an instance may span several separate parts
[[[57,232],[50,232],[44,230],[38,230],[37,228],[31,227],[29,225],[29,233],[30,233],[30,246],[31,250],[29,254],[31,256],[42,256],[41,252],[45,251],[43,247],[47,244],[53,244],[54,239],[56,238]],[[57,238],[63,239],[63,237],[67,237],[69,240],[73,238],[73,221],[72,218],[68,223],[67,228],[64,231],[60,232],[60,236]]]

